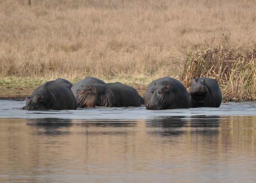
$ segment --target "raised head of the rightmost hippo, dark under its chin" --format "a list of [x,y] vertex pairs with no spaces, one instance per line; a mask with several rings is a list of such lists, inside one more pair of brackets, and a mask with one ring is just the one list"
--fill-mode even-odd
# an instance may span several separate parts
[[190,82],[189,93],[190,93],[190,96],[195,101],[204,100],[207,94],[209,93],[207,84],[205,83],[205,79],[204,78],[192,79]]

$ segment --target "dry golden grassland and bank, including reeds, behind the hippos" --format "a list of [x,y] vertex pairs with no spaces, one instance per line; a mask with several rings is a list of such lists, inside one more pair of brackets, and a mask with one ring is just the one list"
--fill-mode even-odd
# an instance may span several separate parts
[[209,76],[226,101],[256,99],[255,41],[253,0],[0,0],[0,97],[57,77],[145,88]]

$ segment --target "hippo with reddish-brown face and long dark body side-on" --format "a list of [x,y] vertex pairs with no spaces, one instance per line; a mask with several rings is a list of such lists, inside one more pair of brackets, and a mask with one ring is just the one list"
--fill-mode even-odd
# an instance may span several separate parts
[[78,91],[78,107],[138,107],[141,99],[137,90],[116,82],[108,84],[89,84]]

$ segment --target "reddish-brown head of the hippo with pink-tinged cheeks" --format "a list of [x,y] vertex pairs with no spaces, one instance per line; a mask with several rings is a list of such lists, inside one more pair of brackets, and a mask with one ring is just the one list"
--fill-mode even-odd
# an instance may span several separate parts
[[77,107],[95,107],[97,105],[97,92],[94,86],[87,85],[86,87],[82,85],[80,90],[76,91],[77,94]]

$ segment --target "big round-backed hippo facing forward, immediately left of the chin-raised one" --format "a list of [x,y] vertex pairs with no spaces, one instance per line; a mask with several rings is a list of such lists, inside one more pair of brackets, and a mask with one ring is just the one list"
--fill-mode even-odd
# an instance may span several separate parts
[[189,94],[177,79],[163,77],[148,85],[145,107],[149,110],[188,108]]

